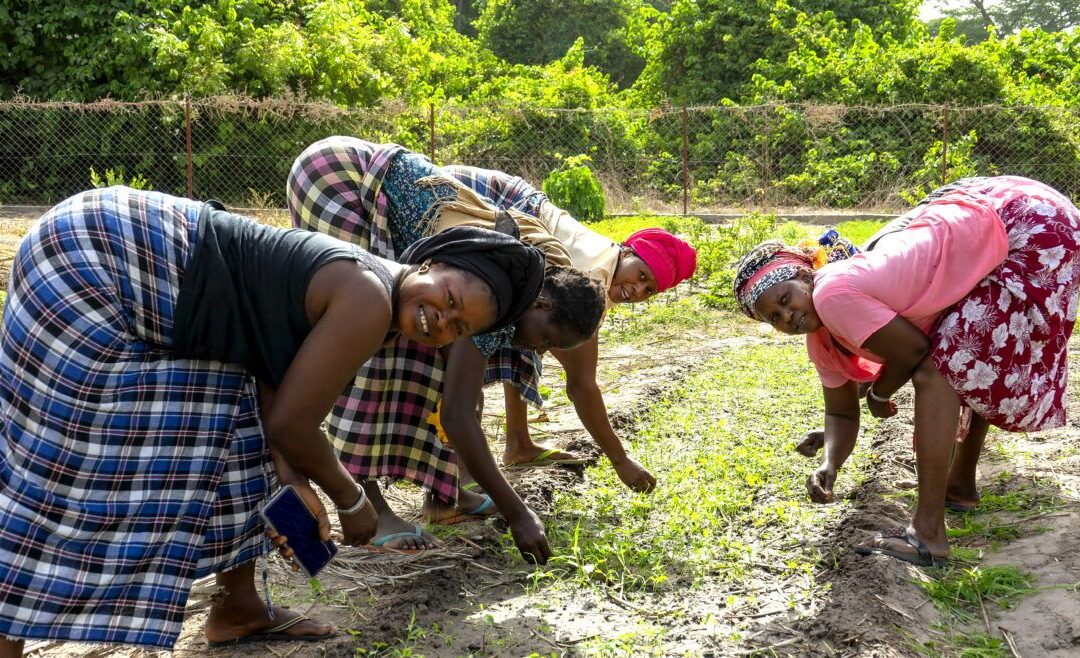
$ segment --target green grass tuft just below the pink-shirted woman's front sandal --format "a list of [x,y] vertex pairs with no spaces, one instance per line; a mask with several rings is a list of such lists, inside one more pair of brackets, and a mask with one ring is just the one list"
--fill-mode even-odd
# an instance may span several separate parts
[[1010,565],[975,566],[946,569],[940,577],[922,574],[917,585],[942,613],[961,621],[971,621],[980,605],[997,604],[1009,608],[1021,597],[1034,592],[1032,576]]

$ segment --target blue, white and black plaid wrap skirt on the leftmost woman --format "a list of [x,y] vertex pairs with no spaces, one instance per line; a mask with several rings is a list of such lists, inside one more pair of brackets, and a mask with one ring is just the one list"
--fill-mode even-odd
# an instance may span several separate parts
[[68,199],[15,256],[0,334],[0,635],[168,647],[195,578],[268,549],[254,380],[170,352],[201,204]]

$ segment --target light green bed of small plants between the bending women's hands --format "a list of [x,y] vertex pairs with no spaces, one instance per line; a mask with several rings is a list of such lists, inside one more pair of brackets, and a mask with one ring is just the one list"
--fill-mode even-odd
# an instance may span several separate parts
[[[632,439],[635,458],[663,474],[656,492],[631,494],[604,460],[584,491],[556,498],[556,580],[621,592],[751,573],[812,583],[820,555],[805,539],[846,505],[810,502],[813,467],[791,451],[791,437],[821,414],[821,387],[797,339],[744,345],[703,364],[656,401]],[[861,476],[865,445],[846,465],[841,492]]]

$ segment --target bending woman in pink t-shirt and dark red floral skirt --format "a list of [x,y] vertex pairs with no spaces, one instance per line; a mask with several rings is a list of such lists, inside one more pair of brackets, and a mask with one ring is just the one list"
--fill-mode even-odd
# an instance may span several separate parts
[[[1000,176],[958,180],[907,216],[872,251],[832,250],[835,261],[820,269],[806,251],[761,244],[740,263],[734,292],[746,315],[807,336],[825,398],[813,500],[833,500],[854,446],[859,382],[873,382],[866,405],[887,417],[890,398],[912,381],[915,516],[855,549],[929,566],[948,555],[946,497],[977,500],[987,424],[1029,432],[1065,422],[1080,212],[1041,183]],[[950,471],[961,405],[974,414],[972,431]]]

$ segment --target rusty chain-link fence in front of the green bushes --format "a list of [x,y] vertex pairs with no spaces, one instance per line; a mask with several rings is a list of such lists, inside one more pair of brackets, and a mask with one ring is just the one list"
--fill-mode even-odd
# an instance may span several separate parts
[[[132,183],[233,206],[282,206],[293,159],[332,134],[395,142],[436,163],[537,184],[585,153],[610,213],[894,211],[942,182],[1018,174],[1080,197],[1080,109],[534,107],[342,110],[320,104],[0,103],[0,204],[48,205]],[[93,170],[93,175],[92,171]]]

